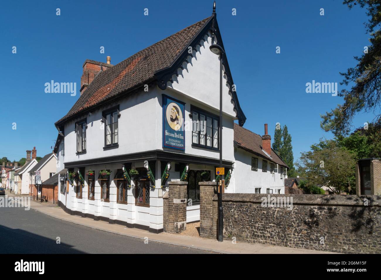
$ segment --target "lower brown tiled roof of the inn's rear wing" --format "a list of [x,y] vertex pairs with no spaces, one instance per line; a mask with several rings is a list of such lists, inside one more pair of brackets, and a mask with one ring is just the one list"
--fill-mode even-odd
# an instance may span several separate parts
[[237,123],[234,123],[234,141],[241,149],[247,150],[248,152],[289,168],[287,164],[283,162],[282,158],[280,158],[279,155],[274,152],[273,149],[271,149],[271,157],[269,157],[262,150],[262,136],[237,125]]

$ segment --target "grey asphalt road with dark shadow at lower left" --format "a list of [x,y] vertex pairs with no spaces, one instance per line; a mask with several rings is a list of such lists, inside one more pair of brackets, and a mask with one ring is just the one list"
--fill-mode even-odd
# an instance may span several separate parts
[[[60,237],[61,243],[56,243]],[[202,254],[208,251],[112,234],[34,209],[0,207],[0,254]]]

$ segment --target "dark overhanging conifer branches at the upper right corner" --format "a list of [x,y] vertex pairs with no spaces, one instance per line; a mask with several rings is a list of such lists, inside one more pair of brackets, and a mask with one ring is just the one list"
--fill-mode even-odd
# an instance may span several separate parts
[[344,97],[344,104],[338,104],[331,112],[322,115],[320,126],[326,131],[332,131],[336,136],[349,134],[352,120],[358,112],[374,112],[375,123],[381,123],[381,2],[344,0],[343,4],[349,9],[357,4],[361,8],[366,7],[367,16],[370,18],[365,27],[370,34],[370,46],[367,51],[363,51],[361,57],[355,56],[357,66],[340,73],[344,77],[340,84],[351,86],[338,94]]

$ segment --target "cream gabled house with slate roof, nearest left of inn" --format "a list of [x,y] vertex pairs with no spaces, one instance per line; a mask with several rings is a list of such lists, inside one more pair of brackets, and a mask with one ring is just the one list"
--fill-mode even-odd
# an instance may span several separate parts
[[[32,158],[36,157],[36,150],[32,150]],[[54,152],[45,155],[29,170],[29,195],[34,200],[41,198],[41,185],[43,181],[56,174],[57,157]]]

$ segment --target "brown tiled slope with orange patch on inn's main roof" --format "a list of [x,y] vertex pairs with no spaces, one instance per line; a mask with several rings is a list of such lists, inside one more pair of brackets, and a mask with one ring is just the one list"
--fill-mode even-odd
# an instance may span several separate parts
[[102,101],[154,81],[155,72],[170,66],[210,18],[203,19],[100,72],[56,125]]

